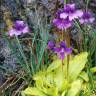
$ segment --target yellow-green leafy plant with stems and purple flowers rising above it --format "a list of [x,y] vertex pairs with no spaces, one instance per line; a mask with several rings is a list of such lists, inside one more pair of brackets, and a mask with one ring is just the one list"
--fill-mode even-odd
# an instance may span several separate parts
[[[56,46],[54,41],[49,41],[48,48],[61,60],[55,58],[47,69],[34,74],[35,83],[22,91],[22,96],[95,96],[91,90],[87,94],[89,76],[85,66],[88,63],[88,53],[73,56],[70,55],[73,48],[67,48],[70,47],[68,28],[72,27],[72,23],[90,24],[95,18],[90,12],[77,10],[75,4],[65,4],[56,14],[57,18],[53,20],[53,24],[62,31],[61,37],[57,37],[60,44]],[[83,43],[85,44],[85,41]],[[95,84],[95,81],[93,82]]]

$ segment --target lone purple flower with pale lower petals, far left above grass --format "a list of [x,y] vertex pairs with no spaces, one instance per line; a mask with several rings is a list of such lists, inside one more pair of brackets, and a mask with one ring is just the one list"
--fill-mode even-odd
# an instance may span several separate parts
[[29,27],[28,25],[21,20],[17,20],[14,25],[13,28],[9,30],[8,34],[9,36],[18,36],[21,35],[22,33],[28,33],[29,32]]

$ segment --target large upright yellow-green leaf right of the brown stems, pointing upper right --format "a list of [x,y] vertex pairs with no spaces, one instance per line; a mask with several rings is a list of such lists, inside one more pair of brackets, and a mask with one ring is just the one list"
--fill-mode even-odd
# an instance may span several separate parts
[[69,79],[71,81],[75,80],[82,69],[84,68],[86,62],[87,62],[87,52],[83,52],[79,55],[76,55],[73,60],[69,62]]

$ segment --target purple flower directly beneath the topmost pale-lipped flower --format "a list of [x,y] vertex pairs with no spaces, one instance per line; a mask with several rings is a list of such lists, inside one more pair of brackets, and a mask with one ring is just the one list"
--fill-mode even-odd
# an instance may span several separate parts
[[66,19],[61,19],[61,18],[56,18],[53,20],[53,24],[61,30],[66,30],[67,28],[71,27],[72,22],[69,21],[69,18]]

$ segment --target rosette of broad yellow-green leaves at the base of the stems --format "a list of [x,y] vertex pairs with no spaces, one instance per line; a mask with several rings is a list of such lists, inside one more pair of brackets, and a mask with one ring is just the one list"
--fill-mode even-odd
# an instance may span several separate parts
[[34,86],[26,88],[22,95],[79,96],[81,91],[85,91],[84,86],[87,88],[89,81],[87,73],[83,70],[87,56],[87,52],[72,56],[68,70],[67,58],[63,61],[58,59],[53,61],[46,70],[34,74]]

